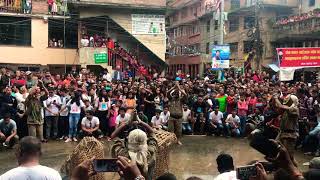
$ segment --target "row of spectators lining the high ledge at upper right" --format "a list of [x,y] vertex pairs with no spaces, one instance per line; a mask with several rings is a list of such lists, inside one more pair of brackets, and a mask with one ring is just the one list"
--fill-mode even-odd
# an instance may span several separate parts
[[320,17],[320,10],[315,9],[308,13],[303,13],[301,15],[292,15],[289,17],[281,18],[276,22],[276,25],[287,25],[290,23],[300,22],[311,18]]

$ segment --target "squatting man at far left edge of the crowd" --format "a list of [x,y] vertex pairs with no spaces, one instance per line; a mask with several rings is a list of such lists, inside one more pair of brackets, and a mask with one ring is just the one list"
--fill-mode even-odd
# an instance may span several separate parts
[[19,138],[17,136],[17,125],[14,120],[10,118],[10,114],[4,115],[0,120],[0,143],[5,147],[13,147]]

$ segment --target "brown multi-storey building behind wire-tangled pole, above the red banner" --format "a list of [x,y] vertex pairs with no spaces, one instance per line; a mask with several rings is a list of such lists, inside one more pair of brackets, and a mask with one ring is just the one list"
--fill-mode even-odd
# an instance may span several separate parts
[[[228,22],[226,23],[225,43],[230,44],[231,65],[242,67],[249,53],[256,54],[256,20],[259,20],[262,41],[262,57],[257,62],[251,58],[251,66],[257,69],[276,63],[277,47],[318,46],[319,17],[304,21],[278,25],[277,21],[313,11],[320,6],[319,0],[226,0]],[[259,2],[260,5],[257,5]]]

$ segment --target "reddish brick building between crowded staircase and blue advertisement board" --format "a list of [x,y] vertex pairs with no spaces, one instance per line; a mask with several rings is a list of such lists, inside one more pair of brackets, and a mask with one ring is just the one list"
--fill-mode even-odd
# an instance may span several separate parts
[[213,19],[215,8],[208,1],[175,0],[167,14],[168,72],[177,70],[196,76],[210,62],[211,48],[217,44],[218,21]]

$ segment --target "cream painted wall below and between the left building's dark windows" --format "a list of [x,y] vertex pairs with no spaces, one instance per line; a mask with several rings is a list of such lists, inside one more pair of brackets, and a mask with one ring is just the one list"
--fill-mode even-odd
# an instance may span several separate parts
[[76,49],[48,48],[48,23],[43,19],[31,21],[31,47],[0,46],[0,52],[0,63],[47,65],[78,62]]

